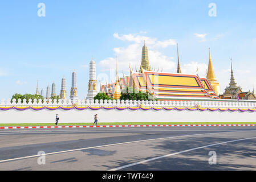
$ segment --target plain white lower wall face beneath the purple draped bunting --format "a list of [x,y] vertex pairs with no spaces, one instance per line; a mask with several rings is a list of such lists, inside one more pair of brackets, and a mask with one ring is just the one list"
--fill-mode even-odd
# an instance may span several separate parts
[[189,110],[0,110],[0,123],[92,123],[94,114],[103,122],[256,122],[256,112]]

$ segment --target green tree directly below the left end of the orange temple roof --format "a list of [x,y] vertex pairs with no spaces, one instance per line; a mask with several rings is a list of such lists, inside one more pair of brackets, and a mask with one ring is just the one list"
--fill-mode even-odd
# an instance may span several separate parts
[[127,86],[126,90],[122,90],[120,100],[136,100],[136,101],[148,101],[157,100],[149,92],[136,91],[134,88]]

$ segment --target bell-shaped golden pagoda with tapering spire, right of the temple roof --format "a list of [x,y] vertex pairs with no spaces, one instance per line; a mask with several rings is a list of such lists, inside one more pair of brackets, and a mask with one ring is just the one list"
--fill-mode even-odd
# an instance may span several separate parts
[[214,92],[219,96],[221,94],[220,84],[217,81],[217,78],[213,71],[212,59],[210,57],[210,48],[209,48],[209,64],[208,64],[208,71],[206,76],[213,87]]

